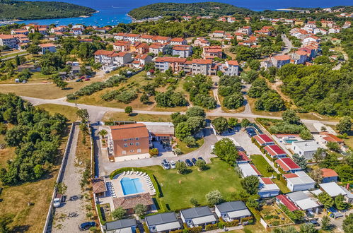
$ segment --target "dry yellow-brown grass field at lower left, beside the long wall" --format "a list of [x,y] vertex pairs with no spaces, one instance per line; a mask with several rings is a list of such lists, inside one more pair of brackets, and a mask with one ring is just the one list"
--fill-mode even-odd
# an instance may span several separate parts
[[[42,179],[18,186],[4,187],[1,193],[3,200],[0,204],[0,219],[6,214],[14,215],[13,222],[9,225],[13,228],[12,232],[42,232],[68,134],[69,127],[66,136],[62,139],[60,156],[56,157],[50,172]],[[1,166],[9,157],[13,157],[14,153],[9,155],[11,156],[0,156]],[[32,204],[28,205],[28,203]]]

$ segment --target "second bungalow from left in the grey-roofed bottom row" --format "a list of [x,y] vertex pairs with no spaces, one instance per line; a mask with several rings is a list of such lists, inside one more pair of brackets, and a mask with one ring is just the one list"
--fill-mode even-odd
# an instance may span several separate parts
[[145,220],[150,232],[170,232],[181,228],[174,212],[149,215]]

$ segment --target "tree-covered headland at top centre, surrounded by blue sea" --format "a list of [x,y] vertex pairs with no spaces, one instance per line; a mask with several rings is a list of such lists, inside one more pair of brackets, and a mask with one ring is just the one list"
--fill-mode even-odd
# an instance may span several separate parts
[[135,8],[129,16],[136,20],[156,16],[231,16],[236,13],[247,14],[252,11],[231,4],[200,2],[193,4],[158,3]]

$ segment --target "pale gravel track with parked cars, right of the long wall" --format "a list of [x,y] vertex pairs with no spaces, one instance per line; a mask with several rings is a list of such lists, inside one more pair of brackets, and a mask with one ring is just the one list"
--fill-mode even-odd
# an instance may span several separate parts
[[85,201],[81,192],[81,168],[75,166],[76,145],[79,138],[79,125],[74,125],[74,136],[69,147],[69,155],[64,167],[63,182],[67,186],[66,202],[55,208],[52,232],[79,232],[79,224],[86,221]]

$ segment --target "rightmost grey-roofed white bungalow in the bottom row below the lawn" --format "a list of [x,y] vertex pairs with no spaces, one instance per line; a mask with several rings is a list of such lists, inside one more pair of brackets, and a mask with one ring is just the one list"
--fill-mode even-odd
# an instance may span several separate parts
[[226,222],[241,220],[244,217],[251,216],[250,211],[243,201],[230,201],[214,205],[214,213]]

